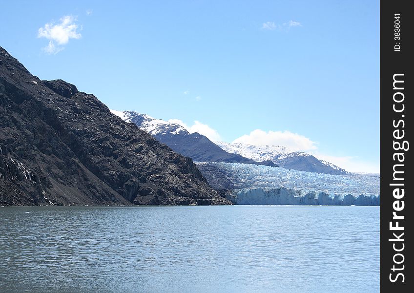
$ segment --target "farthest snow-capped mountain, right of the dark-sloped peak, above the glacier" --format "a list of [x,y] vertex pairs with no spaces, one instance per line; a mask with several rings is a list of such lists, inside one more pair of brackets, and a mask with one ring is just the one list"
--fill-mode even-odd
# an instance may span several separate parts
[[291,151],[285,146],[253,146],[242,143],[214,142],[229,153],[240,154],[255,161],[270,160],[286,169],[310,171],[335,175],[350,172],[325,160],[317,159],[303,151]]

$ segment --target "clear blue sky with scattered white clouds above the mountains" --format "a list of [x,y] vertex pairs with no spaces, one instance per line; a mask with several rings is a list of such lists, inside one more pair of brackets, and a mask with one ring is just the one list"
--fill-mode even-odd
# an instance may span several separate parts
[[379,172],[379,1],[6,1],[0,46],[112,109]]

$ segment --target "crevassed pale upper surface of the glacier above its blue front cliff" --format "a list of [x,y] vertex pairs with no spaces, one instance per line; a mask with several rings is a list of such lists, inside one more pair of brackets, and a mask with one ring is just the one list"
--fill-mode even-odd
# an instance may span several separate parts
[[[331,175],[262,165],[197,162],[197,165],[205,164],[214,165],[230,178],[235,194],[238,193],[239,197],[250,196],[257,199],[261,196],[271,196],[271,188],[293,189],[294,193],[290,194],[292,197],[314,194],[314,197],[318,198],[322,192],[331,199],[336,196],[337,201],[344,200],[347,195],[379,196],[379,174]],[[350,201],[350,204],[355,203]]]

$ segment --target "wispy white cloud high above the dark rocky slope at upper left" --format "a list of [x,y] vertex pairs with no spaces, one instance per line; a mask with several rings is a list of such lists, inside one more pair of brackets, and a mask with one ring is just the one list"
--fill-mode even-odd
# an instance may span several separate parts
[[75,23],[76,17],[63,16],[59,23],[46,23],[38,30],[38,38],[46,38],[49,44],[43,48],[48,54],[56,54],[62,51],[70,39],[80,39],[82,35],[77,32],[79,26]]

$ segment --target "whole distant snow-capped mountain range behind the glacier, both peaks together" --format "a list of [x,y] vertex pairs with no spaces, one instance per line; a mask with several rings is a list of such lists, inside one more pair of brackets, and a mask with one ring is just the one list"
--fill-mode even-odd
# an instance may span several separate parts
[[155,119],[134,111],[111,112],[126,122],[131,122],[147,131],[158,141],[186,157],[199,162],[245,163],[280,166],[286,169],[326,173],[333,175],[350,174],[329,162],[300,151],[290,151],[284,146],[252,146],[212,142],[206,136],[189,133],[185,127]]

